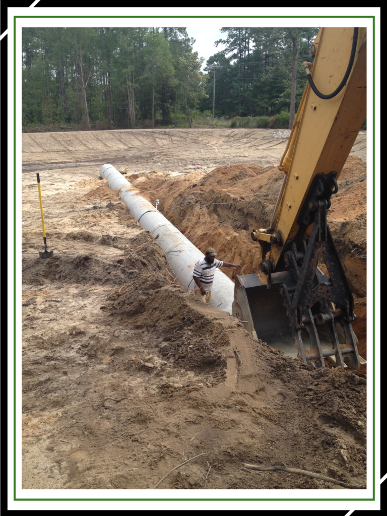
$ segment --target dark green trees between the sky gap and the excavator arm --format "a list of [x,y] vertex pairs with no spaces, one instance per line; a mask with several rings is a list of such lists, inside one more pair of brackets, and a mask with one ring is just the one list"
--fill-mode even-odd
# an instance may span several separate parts
[[[215,73],[215,115],[271,117],[289,111],[293,52],[296,49],[295,109],[305,84],[302,62],[311,61],[310,45],[317,27],[222,27],[225,49],[207,60],[208,80],[201,109],[211,109]],[[295,43],[293,45],[293,43]],[[260,125],[264,121],[259,122]]]

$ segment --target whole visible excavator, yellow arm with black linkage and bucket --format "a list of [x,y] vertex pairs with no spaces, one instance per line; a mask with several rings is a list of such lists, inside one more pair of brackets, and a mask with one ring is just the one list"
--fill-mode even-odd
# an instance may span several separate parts
[[233,301],[233,316],[255,338],[292,347],[305,365],[357,371],[353,297],[327,210],[366,117],[366,36],[365,28],[324,27],[312,43],[270,227],[251,233],[261,262],[236,276]]

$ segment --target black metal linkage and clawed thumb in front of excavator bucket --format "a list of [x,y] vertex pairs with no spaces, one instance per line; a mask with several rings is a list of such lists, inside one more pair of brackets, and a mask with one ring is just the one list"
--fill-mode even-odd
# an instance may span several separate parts
[[[347,356],[353,369],[359,370],[357,338],[351,324],[356,320],[353,297],[327,224],[330,196],[337,192],[335,175],[335,172],[331,172],[316,176],[311,195],[301,212],[299,234],[304,233],[312,222],[313,229],[307,241],[299,241],[298,247],[292,243],[291,249],[284,253],[289,277],[282,284],[280,294],[304,364],[313,360],[316,365],[325,367],[324,358],[334,357],[336,365],[344,368],[344,357]],[[329,276],[325,276],[318,268],[322,260]],[[336,331],[337,323],[345,336],[345,343],[342,344]],[[329,335],[332,349],[321,349],[318,327],[320,333]],[[311,349],[305,349],[303,329],[309,334]]]

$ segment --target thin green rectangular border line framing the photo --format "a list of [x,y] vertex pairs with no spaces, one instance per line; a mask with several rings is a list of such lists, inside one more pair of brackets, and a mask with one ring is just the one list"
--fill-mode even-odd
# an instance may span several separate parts
[[[16,19],[17,18],[372,18],[373,19],[373,497],[372,498],[17,498],[16,497]],[[13,501],[14,502],[372,502],[375,501],[375,16],[55,16],[13,17]]]

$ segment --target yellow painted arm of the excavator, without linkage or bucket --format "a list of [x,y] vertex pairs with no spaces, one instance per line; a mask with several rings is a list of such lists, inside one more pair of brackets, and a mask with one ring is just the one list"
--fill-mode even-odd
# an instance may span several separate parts
[[[321,28],[316,38],[312,77],[322,92],[333,91],[341,82],[351,51],[353,28]],[[357,60],[347,86],[330,100],[321,100],[307,84],[301,116],[296,122],[295,147],[280,202],[275,232],[283,244],[298,231],[296,220],[314,177],[343,169],[366,116],[366,29],[359,28]],[[300,111],[300,109],[299,109]],[[292,147],[290,147],[292,148]],[[285,161],[286,157],[284,158]],[[311,229],[308,230],[310,234]],[[272,246],[270,257],[277,263],[281,245]]]

